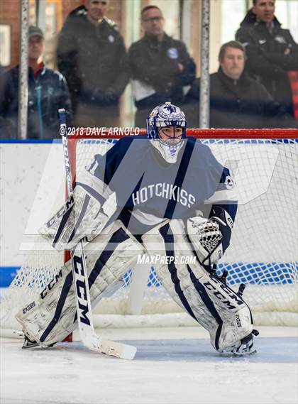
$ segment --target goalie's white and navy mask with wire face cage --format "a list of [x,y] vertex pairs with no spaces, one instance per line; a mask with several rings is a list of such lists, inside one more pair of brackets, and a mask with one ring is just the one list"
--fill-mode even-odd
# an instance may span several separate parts
[[148,138],[167,163],[176,163],[186,137],[184,112],[170,102],[158,105],[147,119]]

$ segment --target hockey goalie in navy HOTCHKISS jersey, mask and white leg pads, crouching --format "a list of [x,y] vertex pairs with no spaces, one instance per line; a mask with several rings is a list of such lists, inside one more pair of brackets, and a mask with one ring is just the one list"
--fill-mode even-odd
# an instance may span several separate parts
[[[236,293],[226,273],[216,274],[236,219],[236,185],[207,146],[186,137],[186,127],[179,107],[155,107],[148,136],[122,138],[105,155],[94,155],[62,214],[41,234],[58,251],[84,241],[92,304],[121,285],[140,254],[164,256],[155,268],[162,285],[208,330],[214,349],[251,354],[258,332],[243,287]],[[16,318],[28,347],[53,346],[77,327],[71,261]]]

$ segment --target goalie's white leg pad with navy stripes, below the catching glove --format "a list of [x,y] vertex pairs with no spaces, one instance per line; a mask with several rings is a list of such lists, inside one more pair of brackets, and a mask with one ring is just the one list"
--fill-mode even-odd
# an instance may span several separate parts
[[[206,271],[197,259],[194,261],[194,249],[182,220],[162,224],[142,239],[151,255],[175,256],[175,263],[156,267],[158,276],[175,302],[209,331],[216,350],[233,346],[252,332],[248,305],[219,277]],[[188,264],[182,263],[186,257]]]

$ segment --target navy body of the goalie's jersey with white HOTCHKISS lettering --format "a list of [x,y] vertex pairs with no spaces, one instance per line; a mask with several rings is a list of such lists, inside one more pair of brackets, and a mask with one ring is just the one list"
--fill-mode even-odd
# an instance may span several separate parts
[[[162,211],[158,202],[162,198],[172,198],[167,208],[171,212],[177,210],[177,199],[182,202],[181,209],[190,205],[195,208],[216,191],[227,189],[226,178],[229,176],[228,169],[216,160],[210,148],[190,137],[185,139],[175,164],[166,163],[150,145],[147,136],[122,138],[105,155],[95,156],[91,171],[116,192],[119,206],[133,207],[136,200],[143,200],[143,206],[146,204],[146,209],[150,208],[151,212],[154,209]],[[151,199],[145,200],[143,194],[139,199],[138,190],[144,195],[150,194]],[[160,190],[163,192],[161,197]],[[182,216],[179,210],[177,212]]]

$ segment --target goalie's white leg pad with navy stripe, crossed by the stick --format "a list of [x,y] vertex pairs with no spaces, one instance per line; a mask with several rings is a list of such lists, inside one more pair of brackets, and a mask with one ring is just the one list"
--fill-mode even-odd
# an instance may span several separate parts
[[[84,249],[92,304],[114,293],[122,285],[121,276],[131,268],[143,246],[128,233],[120,221],[114,222]],[[23,332],[41,346],[60,342],[76,327],[75,290],[69,261],[40,293],[16,315]]]

